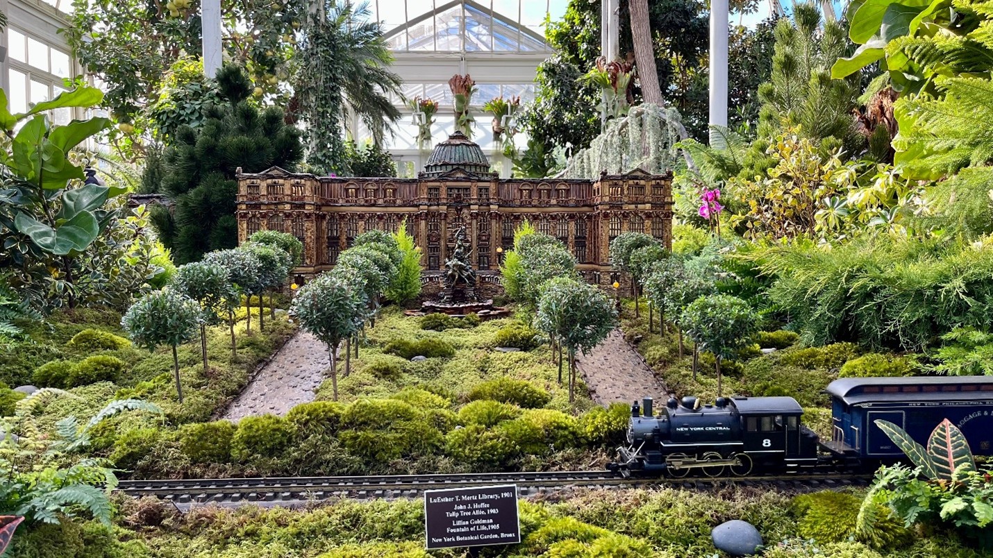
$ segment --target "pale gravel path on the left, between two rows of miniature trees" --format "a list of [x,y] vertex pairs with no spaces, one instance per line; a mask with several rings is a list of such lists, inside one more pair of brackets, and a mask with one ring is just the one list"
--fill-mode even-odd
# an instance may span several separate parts
[[297,332],[238,395],[221,418],[237,422],[252,415],[285,415],[314,400],[314,390],[331,367],[328,349],[314,336]]

